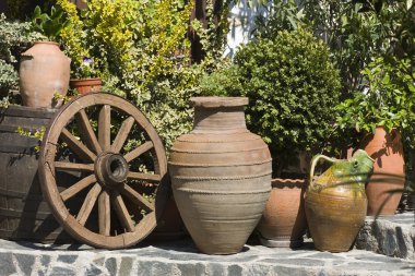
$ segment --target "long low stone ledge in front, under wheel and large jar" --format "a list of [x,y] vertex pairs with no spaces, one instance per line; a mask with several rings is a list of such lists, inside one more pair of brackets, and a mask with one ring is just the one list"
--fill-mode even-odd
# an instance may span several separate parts
[[0,275],[415,275],[415,262],[363,250],[316,251],[246,245],[234,255],[198,253],[190,239],[152,242],[127,250],[44,245],[0,240]]

